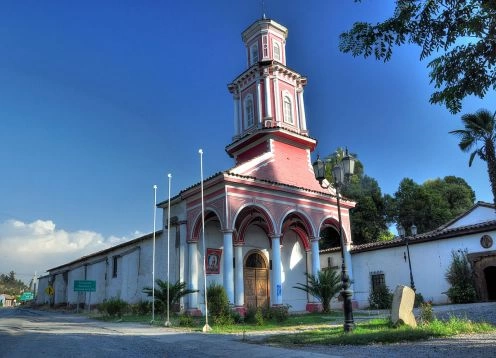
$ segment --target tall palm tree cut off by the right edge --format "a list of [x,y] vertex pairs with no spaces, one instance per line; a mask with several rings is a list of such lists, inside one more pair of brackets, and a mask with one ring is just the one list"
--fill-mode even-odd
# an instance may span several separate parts
[[458,146],[462,151],[468,152],[475,148],[470,154],[469,167],[472,166],[476,155],[487,163],[487,173],[489,174],[489,181],[493,192],[493,202],[496,205],[495,121],[496,113],[491,114],[487,109],[479,109],[476,113],[468,113],[462,116],[465,129],[457,129],[450,133],[460,138]]

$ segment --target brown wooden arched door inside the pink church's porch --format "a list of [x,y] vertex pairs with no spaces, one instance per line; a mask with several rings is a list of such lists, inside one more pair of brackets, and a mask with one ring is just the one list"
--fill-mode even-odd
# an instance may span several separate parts
[[248,253],[244,266],[246,307],[269,306],[269,268],[261,251]]

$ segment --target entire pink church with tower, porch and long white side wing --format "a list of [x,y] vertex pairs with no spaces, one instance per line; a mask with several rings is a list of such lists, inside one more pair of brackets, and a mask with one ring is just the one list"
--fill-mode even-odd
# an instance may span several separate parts
[[[155,278],[167,280],[169,267],[170,282],[180,280],[198,290],[181,302],[191,314],[205,312],[205,282],[224,286],[240,312],[264,305],[290,305],[292,311],[319,308],[315,298],[293,286],[320,270],[320,232],[339,232],[337,201],[336,193],[314,177],[316,140],[308,134],[303,98],[307,79],[286,66],[287,34],[284,26],[265,18],[242,33],[247,66],[228,85],[234,135],[226,152],[234,167],[159,203],[164,225],[155,235],[48,270],[40,278],[38,302],[82,302],[72,290],[75,280],[96,281],[96,292],[84,298],[86,303],[112,297],[130,303],[147,300],[142,289],[153,282],[155,262]],[[351,277],[353,207],[341,200]],[[51,298],[48,291],[54,292]]]

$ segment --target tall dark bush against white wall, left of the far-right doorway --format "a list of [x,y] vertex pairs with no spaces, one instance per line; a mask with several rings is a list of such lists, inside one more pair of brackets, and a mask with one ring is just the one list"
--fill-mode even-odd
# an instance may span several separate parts
[[475,302],[477,294],[472,280],[472,268],[467,259],[467,250],[451,251],[452,261],[446,270],[446,280],[451,285],[447,292],[452,303]]

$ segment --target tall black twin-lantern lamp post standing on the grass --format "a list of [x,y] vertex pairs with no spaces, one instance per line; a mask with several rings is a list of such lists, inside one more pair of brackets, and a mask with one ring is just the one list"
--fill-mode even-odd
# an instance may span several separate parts
[[[353,293],[350,290],[350,277],[348,276],[348,270],[346,269],[345,263],[345,245],[343,239],[343,228],[341,225],[341,204],[340,204],[340,194],[339,190],[341,186],[345,183],[346,177],[353,174],[355,168],[355,160],[354,158],[348,154],[348,150],[346,150],[346,155],[341,160],[341,163],[335,165],[332,168],[332,176],[334,178],[334,187],[336,188],[336,200],[338,206],[338,223],[339,223],[339,240],[341,243],[341,295],[344,299],[344,331],[351,332],[355,327],[355,322],[353,320],[353,306],[351,303],[351,297]],[[326,172],[326,163],[317,158],[317,160],[313,163],[313,170],[315,173],[315,179],[317,179],[321,185],[325,179]]]

